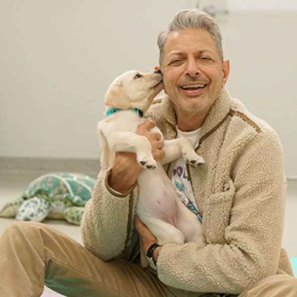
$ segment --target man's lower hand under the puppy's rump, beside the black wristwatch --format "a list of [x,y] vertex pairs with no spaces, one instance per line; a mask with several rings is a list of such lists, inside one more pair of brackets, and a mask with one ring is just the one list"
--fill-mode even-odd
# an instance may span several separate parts
[[[150,232],[148,227],[139,219],[139,217],[136,215],[134,218],[135,228],[138,231],[141,247],[145,254],[148,252],[148,248],[152,244],[157,243],[157,239],[154,237],[154,235]],[[156,247],[153,251],[153,259],[156,261],[159,255],[161,247]]]

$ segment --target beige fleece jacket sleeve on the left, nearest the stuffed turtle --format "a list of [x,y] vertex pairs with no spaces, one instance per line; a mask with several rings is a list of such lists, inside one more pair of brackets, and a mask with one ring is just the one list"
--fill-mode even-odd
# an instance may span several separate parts
[[127,196],[115,196],[105,186],[110,171],[101,157],[101,170],[92,198],[85,206],[81,221],[84,246],[101,260],[107,261],[119,255],[129,240],[132,225],[133,192]]

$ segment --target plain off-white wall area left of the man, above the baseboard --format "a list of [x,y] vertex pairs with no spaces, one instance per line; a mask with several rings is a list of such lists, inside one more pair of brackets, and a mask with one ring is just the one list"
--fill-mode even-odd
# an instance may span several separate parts
[[158,64],[156,36],[184,1],[0,1],[0,156],[98,158],[111,81]]

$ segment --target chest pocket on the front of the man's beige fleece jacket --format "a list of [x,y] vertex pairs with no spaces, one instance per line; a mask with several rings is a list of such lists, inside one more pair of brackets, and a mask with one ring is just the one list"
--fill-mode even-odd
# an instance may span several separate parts
[[229,179],[223,191],[210,195],[203,215],[203,229],[206,242],[209,244],[225,244],[225,231],[229,225],[235,187]]

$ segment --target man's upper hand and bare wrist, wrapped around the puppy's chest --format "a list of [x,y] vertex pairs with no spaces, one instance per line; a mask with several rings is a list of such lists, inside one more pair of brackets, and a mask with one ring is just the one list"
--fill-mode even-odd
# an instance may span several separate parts
[[[151,120],[146,120],[138,126],[136,134],[147,137],[154,159],[157,161],[165,155],[162,150],[164,142],[161,135],[156,132],[150,132],[156,124]],[[133,152],[117,152],[112,167],[111,174],[108,179],[108,185],[113,190],[125,194],[136,182],[136,178],[143,168],[136,161],[136,154]]]

